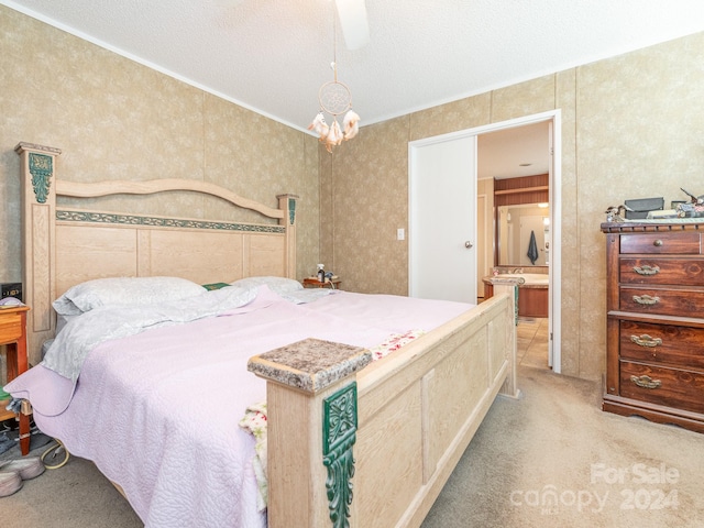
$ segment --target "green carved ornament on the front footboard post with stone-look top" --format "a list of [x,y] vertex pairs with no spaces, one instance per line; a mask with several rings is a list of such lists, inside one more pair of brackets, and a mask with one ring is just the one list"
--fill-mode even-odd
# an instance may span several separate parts
[[356,441],[356,383],[323,400],[322,463],[328,468],[326,488],[333,528],[350,526],[352,477]]

